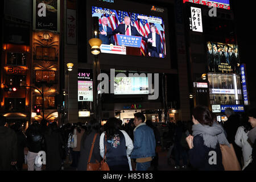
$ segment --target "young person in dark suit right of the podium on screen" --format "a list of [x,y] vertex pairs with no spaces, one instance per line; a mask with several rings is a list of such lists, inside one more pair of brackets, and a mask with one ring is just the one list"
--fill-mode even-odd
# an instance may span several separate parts
[[156,27],[154,24],[151,24],[150,26],[150,34],[148,34],[148,38],[151,38],[154,42],[148,43],[148,56],[150,57],[162,57],[161,53],[161,39],[160,35],[156,34]]

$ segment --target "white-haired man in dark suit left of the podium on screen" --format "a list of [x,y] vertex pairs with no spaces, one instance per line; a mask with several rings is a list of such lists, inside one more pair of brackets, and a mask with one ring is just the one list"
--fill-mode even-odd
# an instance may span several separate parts
[[[103,16],[101,18],[101,24],[98,26],[100,32],[101,31],[107,31],[107,32],[110,32],[112,31],[112,29],[110,27],[107,26],[108,24],[108,18],[106,18],[105,16]],[[99,38],[101,39],[102,41],[102,44],[113,44],[114,45],[114,38],[113,38],[113,35],[101,35],[99,36]]]

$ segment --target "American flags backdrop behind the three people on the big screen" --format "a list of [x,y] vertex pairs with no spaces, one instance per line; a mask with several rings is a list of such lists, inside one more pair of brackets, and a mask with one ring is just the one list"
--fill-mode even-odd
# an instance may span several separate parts
[[[96,12],[96,10],[105,10],[105,14],[99,14]],[[131,26],[134,26],[137,28],[137,31],[143,35],[144,37],[147,38],[148,34],[150,34],[150,25],[152,23],[148,23],[146,19],[139,19],[138,15],[141,16],[146,16],[142,14],[136,14],[136,13],[129,13],[127,11],[119,11],[119,10],[111,10],[111,9],[104,9],[102,7],[94,7],[92,6],[92,15],[93,16],[98,16],[99,18],[99,24],[101,24],[101,18],[102,16],[105,16],[108,18],[108,26],[112,28],[112,30],[115,30],[115,28],[118,27],[118,24],[125,23],[124,18],[125,16],[129,16],[131,19]],[[152,18],[160,18],[160,17],[155,17],[155,16],[148,16]],[[160,18],[162,19],[162,18]],[[158,27],[161,26],[161,30],[158,30]],[[164,23],[162,21],[162,24],[160,24],[158,27],[156,27],[156,32],[157,34],[160,35],[161,38],[161,46],[162,46],[162,54],[163,56],[166,55],[166,41],[165,41],[165,32],[164,32]],[[114,35],[114,40],[115,40],[115,45],[117,45],[117,36]],[[141,43],[141,55],[147,56],[147,43],[142,40]]]

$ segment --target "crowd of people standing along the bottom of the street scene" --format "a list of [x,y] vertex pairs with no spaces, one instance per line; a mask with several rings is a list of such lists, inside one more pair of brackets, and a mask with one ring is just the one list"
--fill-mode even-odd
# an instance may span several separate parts
[[[241,169],[255,170],[256,110],[238,115],[228,108],[225,115],[228,120],[219,123],[207,107],[196,106],[192,121],[170,122],[164,134],[142,113],[135,113],[125,125],[114,117],[104,126],[96,119],[86,125],[78,122],[61,127],[42,120],[33,122],[26,131],[18,122],[6,127],[6,118],[0,115],[0,170],[22,171],[27,164],[28,171],[41,171],[43,167],[58,171],[68,163],[74,170],[86,171],[88,160],[97,163],[102,159],[110,171],[158,170],[158,153],[167,149],[167,161],[172,158],[175,169],[222,171],[221,145],[231,144]],[[45,166],[35,162],[42,151]],[[213,153],[216,159],[210,163]]]

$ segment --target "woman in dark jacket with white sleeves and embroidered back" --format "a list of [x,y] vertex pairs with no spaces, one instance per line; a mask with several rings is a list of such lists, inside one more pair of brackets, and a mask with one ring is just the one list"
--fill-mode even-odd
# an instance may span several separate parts
[[100,137],[100,154],[104,158],[106,152],[105,159],[110,171],[129,171],[129,155],[133,151],[133,141],[125,131],[119,130],[118,122],[117,118],[109,118],[105,123],[104,133]]

